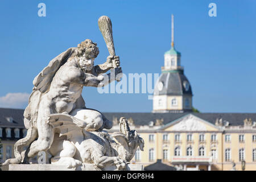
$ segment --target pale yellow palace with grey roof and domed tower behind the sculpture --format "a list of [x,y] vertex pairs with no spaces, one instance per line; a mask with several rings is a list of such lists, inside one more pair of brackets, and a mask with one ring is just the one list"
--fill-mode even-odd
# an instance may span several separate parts
[[[179,170],[242,170],[242,164],[245,170],[256,170],[256,113],[193,113],[192,88],[180,57],[172,16],[171,49],[164,54],[152,112],[104,113],[114,123],[109,132],[119,131],[118,120],[126,117],[144,139],[144,151],[138,149],[131,162],[151,170],[160,161]],[[14,143],[26,136],[23,112],[0,109],[2,160],[14,158]]]

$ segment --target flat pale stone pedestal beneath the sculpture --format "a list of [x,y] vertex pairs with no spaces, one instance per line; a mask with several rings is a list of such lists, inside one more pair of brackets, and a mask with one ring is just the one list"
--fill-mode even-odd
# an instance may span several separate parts
[[[77,168],[67,168],[66,166],[53,164],[10,164],[2,168],[3,171],[95,171],[93,164],[85,164]],[[115,168],[107,168],[106,171],[113,171]],[[142,164],[127,164],[128,171],[143,171]]]

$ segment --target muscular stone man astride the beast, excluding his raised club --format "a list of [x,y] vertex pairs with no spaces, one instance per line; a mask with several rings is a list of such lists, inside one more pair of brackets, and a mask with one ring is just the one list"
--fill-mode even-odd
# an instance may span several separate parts
[[[49,123],[51,114],[62,113],[77,118],[73,122],[86,131],[102,131],[112,127],[112,122],[102,113],[86,109],[81,96],[84,86],[104,86],[122,73],[119,56],[108,56],[104,64],[94,66],[98,53],[97,44],[86,39],[77,48],[69,48],[55,57],[35,77],[34,88],[24,111],[27,136],[15,143],[15,158],[6,160],[3,165],[26,163],[24,158],[33,158],[39,151],[51,147],[55,135],[54,127]],[[114,78],[110,77],[110,73],[103,74],[111,68],[115,70]],[[26,152],[23,151],[24,146],[29,146]]]

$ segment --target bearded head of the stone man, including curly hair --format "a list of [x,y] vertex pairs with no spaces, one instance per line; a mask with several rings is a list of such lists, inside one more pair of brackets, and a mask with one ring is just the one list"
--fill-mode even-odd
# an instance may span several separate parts
[[98,47],[92,40],[86,39],[77,46],[77,60],[81,68],[90,71],[94,66],[94,59],[98,56]]

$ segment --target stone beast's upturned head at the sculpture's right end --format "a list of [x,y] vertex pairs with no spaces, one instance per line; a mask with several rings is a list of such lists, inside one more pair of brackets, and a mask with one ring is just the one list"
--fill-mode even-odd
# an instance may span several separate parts
[[112,137],[126,150],[125,159],[127,161],[133,158],[138,147],[143,151],[143,138],[139,137],[136,130],[130,130],[127,119],[124,117],[119,119],[119,132],[114,133]]

